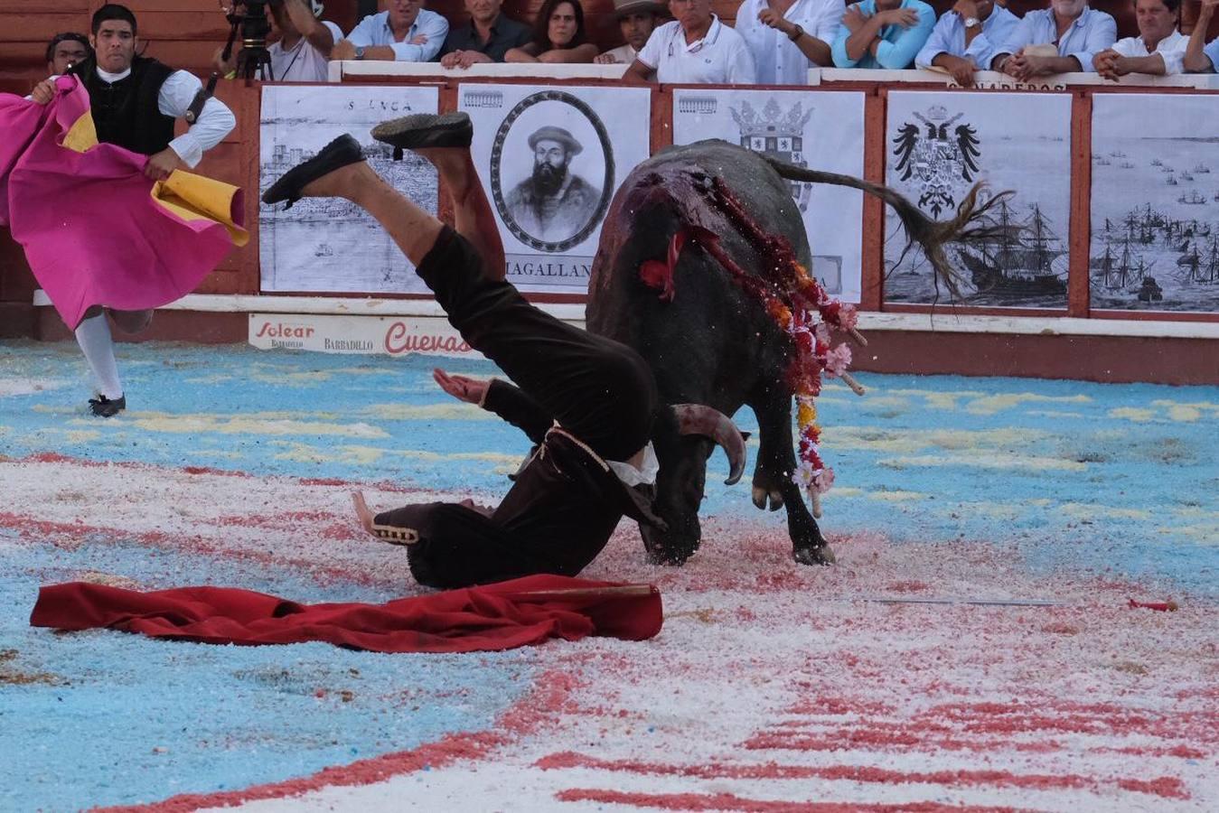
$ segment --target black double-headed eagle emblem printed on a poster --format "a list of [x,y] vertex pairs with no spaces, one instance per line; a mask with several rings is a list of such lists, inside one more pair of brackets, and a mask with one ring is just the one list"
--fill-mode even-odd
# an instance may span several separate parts
[[907,122],[894,139],[901,179],[917,177],[919,208],[936,218],[957,205],[961,188],[978,174],[981,143],[978,130],[969,124],[957,124],[963,115],[950,118],[942,105],[933,105],[925,117],[914,113],[923,127]]

